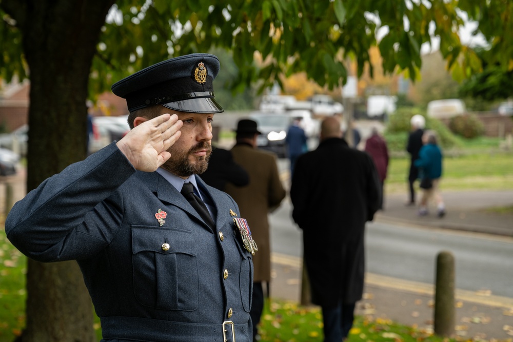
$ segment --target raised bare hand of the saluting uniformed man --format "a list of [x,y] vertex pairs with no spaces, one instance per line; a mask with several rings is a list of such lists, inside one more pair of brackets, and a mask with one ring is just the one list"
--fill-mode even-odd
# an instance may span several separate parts
[[116,145],[136,170],[153,172],[171,157],[167,150],[180,138],[182,126],[176,114],[163,114],[135,126]]

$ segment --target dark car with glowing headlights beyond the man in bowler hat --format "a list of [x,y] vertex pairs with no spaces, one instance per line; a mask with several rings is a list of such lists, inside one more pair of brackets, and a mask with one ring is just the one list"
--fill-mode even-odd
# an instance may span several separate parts
[[258,130],[262,132],[257,137],[258,148],[274,152],[280,158],[286,157],[285,137],[291,123],[290,116],[285,112],[253,112],[249,117],[257,122]]

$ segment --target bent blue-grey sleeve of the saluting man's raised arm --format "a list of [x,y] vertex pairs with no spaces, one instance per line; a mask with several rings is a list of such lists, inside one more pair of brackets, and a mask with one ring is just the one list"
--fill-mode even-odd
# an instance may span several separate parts
[[37,261],[97,253],[121,226],[123,198],[115,190],[134,172],[114,143],[68,166],[13,206],[5,223],[8,239]]

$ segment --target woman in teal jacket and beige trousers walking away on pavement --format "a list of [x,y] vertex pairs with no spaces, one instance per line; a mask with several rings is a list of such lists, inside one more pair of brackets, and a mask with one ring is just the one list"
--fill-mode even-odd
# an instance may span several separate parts
[[429,178],[432,185],[428,189],[422,189],[419,215],[428,214],[427,206],[429,201],[434,198],[437,203],[438,217],[443,217],[445,205],[439,189],[442,176],[442,151],[437,144],[437,136],[434,131],[426,131],[422,136],[422,142],[424,146],[419,151],[419,159],[415,160],[415,166],[420,169],[421,184],[424,183],[422,179]]

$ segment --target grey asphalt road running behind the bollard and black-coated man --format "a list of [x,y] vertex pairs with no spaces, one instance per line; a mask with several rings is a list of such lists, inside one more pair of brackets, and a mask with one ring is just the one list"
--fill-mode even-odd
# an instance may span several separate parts
[[[273,253],[302,257],[301,230],[292,223],[288,198],[269,215]],[[436,258],[451,251],[456,264],[456,287],[476,293],[513,298],[513,241],[461,231],[369,223],[366,233],[366,271],[397,280],[434,284]]]

